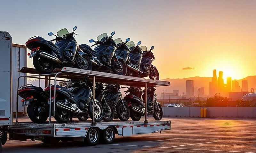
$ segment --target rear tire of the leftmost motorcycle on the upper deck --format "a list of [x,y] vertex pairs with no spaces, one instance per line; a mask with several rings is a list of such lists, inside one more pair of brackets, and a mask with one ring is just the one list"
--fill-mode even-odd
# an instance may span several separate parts
[[53,62],[45,58],[41,58],[39,55],[33,57],[33,65],[39,74],[49,74],[52,73],[54,69]]

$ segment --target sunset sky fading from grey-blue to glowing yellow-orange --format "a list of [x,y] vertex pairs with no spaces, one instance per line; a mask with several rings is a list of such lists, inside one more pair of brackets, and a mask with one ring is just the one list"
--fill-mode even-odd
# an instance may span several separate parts
[[[78,44],[101,33],[142,41],[153,50],[160,79],[256,74],[256,1],[1,1],[0,31],[25,44],[77,26]],[[32,66],[31,60],[28,65]],[[183,69],[185,68],[185,69]]]

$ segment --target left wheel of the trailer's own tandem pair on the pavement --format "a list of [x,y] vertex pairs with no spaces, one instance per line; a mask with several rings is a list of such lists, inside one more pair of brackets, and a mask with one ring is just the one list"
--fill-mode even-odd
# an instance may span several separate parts
[[95,146],[100,141],[100,132],[98,128],[89,128],[84,139],[88,146]]

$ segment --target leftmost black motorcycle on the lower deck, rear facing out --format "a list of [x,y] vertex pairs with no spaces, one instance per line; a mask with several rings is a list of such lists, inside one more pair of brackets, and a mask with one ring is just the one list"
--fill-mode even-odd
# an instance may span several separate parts
[[27,107],[29,119],[34,123],[44,123],[49,116],[49,95],[40,87],[27,84],[20,87],[18,95],[23,98],[22,106]]

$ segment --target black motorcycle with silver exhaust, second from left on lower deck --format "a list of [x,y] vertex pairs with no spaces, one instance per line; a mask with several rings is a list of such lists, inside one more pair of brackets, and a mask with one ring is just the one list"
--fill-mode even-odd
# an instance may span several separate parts
[[[88,82],[89,83],[89,82]],[[54,90],[52,87],[51,90]],[[50,88],[45,89],[46,92]],[[54,91],[52,91],[53,93]],[[94,100],[94,106],[92,106]],[[58,122],[67,122],[75,115],[84,116],[89,114],[92,118],[92,107],[94,107],[94,119],[99,122],[103,118],[103,109],[100,102],[92,98],[92,91],[86,82],[76,82],[70,88],[56,85],[56,106],[54,118]],[[54,106],[52,106],[54,108]],[[85,120],[85,119],[84,119]]]

